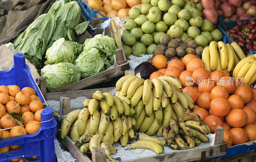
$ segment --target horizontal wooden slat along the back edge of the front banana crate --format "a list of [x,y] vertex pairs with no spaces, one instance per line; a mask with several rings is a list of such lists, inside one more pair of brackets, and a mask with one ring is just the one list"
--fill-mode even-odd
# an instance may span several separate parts
[[78,91],[66,91],[66,92],[53,92],[47,93],[47,100],[60,100],[60,96],[69,97],[70,99],[76,99],[77,97],[84,96],[86,98],[91,98],[92,93],[99,90],[102,93],[109,92],[116,87],[107,87],[107,88],[97,88],[97,89],[86,89],[86,90],[78,90]]

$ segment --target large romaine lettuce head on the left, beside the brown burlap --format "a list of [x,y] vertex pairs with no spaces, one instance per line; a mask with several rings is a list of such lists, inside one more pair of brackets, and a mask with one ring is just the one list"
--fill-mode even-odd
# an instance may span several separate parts
[[52,37],[55,27],[56,22],[52,14],[45,13],[40,15],[28,26],[24,37],[15,48],[15,51],[31,56],[26,57],[30,63],[35,61],[35,59],[31,60],[34,57],[42,60],[42,55],[44,55],[46,51],[46,46]]

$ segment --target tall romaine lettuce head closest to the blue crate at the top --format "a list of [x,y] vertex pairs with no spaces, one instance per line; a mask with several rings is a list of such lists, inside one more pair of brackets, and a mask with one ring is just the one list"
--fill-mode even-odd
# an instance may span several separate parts
[[47,48],[50,48],[53,42],[60,38],[65,38],[67,41],[74,41],[74,28],[78,25],[80,17],[81,9],[76,1],[64,4],[55,17],[56,29]]

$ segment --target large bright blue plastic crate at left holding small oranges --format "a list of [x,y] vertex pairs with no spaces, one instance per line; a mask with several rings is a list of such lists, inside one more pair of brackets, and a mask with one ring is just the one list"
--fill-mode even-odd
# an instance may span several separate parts
[[[36,95],[44,103],[44,99],[36,86],[30,73],[28,65],[25,63],[25,55],[17,53],[13,55],[14,65],[7,71],[0,71],[0,85],[18,85],[20,89],[31,87],[36,91]],[[47,122],[44,122],[47,121]],[[19,150],[0,153],[0,161],[10,162],[13,158],[23,158],[37,156],[35,162],[55,162],[54,139],[56,135],[57,122],[53,119],[52,109],[44,107],[41,112],[41,127],[33,135],[15,136],[0,140],[0,148],[5,146],[20,145]]]

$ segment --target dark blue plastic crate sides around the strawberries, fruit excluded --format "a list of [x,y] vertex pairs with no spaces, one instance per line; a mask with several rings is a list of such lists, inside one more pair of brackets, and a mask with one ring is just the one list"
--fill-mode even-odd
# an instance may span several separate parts
[[[224,16],[220,15],[218,17],[218,28],[219,30],[227,37],[227,43],[232,43],[234,40],[228,35],[226,32],[226,29],[229,27],[234,27],[236,26],[236,21],[250,21],[252,18],[247,18],[247,19],[241,19],[241,20],[232,20],[232,21],[223,21]],[[256,18],[254,18],[256,19]]]

